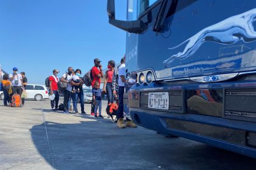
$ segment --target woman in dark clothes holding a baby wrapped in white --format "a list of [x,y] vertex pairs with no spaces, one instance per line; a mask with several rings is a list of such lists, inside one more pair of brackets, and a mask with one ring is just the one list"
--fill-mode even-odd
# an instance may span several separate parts
[[78,83],[79,86],[74,86],[74,93],[72,94],[73,106],[75,114],[79,114],[77,109],[77,101],[78,98],[80,99],[80,106],[81,106],[81,114],[87,115],[85,113],[85,104],[84,104],[84,92],[83,92],[83,80],[80,78],[82,71],[80,69],[76,69],[75,74],[72,77],[72,81],[74,83]]

